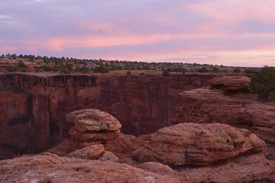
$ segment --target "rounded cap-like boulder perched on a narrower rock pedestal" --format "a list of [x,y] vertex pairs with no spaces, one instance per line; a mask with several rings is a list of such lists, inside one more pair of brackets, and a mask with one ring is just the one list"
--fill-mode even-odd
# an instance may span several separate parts
[[76,140],[109,140],[120,135],[120,122],[98,109],[74,111],[67,114],[66,120],[72,124],[69,134]]

